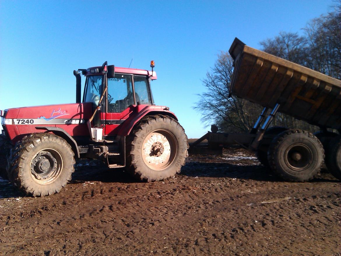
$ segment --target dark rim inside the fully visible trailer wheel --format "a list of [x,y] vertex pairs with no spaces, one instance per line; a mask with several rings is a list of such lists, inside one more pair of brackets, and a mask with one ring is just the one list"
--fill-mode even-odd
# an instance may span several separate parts
[[309,167],[313,158],[309,147],[302,143],[291,145],[284,155],[285,163],[295,171],[303,171]]

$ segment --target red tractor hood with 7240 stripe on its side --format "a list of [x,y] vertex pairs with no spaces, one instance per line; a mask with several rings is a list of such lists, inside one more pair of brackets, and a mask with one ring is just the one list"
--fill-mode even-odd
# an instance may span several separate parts
[[12,124],[67,124],[80,123],[91,115],[91,103],[71,103],[6,109],[4,118]]

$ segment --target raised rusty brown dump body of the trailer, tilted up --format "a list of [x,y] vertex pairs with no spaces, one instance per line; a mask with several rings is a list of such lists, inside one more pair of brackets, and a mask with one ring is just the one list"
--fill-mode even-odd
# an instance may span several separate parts
[[320,127],[341,129],[341,81],[235,39],[231,93]]

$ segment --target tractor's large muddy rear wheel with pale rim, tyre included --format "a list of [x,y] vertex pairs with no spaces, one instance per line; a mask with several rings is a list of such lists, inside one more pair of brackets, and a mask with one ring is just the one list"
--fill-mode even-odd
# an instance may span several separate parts
[[164,115],[143,118],[127,137],[127,170],[148,182],[162,181],[180,172],[188,155],[182,126]]

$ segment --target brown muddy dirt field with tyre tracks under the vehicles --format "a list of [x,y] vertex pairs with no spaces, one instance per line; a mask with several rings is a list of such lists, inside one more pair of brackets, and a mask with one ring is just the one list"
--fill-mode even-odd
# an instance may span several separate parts
[[241,151],[155,183],[80,161],[59,194],[0,197],[0,255],[341,255],[340,182],[282,182]]

